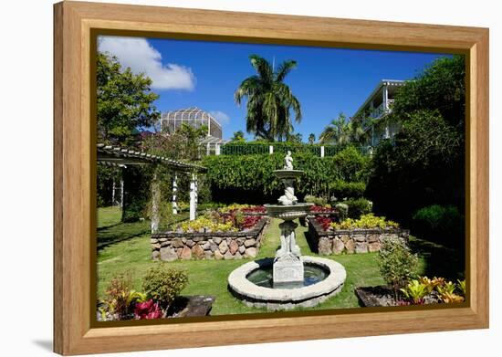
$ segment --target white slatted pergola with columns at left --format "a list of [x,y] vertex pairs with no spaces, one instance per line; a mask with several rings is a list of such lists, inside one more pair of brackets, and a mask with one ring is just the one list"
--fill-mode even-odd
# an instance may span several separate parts
[[[97,161],[99,164],[127,168],[128,165],[144,165],[144,164],[162,164],[172,169],[173,175],[173,214],[178,213],[177,191],[178,184],[177,173],[190,174],[190,220],[194,220],[197,216],[197,199],[198,199],[198,184],[197,173],[204,173],[207,169],[204,166],[193,163],[183,163],[181,161],[169,159],[164,156],[152,155],[146,152],[138,152],[120,146],[106,145],[99,143],[97,145],[98,155]],[[160,186],[156,174],[153,176],[152,182],[152,233],[157,233],[160,224],[159,204],[161,194]]]

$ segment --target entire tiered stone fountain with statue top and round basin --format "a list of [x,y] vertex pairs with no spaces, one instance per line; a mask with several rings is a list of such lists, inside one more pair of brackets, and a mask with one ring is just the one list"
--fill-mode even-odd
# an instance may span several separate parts
[[267,310],[288,310],[298,306],[312,307],[334,296],[345,282],[345,268],[334,260],[302,256],[295,230],[297,218],[309,215],[312,204],[298,203],[294,183],[303,172],[293,169],[288,152],[282,170],[274,171],[282,180],[284,194],[277,205],[265,205],[267,214],[283,220],[280,247],[276,256],[258,259],[236,268],[228,276],[228,288],[246,305]]

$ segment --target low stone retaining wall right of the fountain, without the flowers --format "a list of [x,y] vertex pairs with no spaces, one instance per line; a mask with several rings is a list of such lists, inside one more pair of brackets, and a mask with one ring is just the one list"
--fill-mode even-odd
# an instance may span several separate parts
[[309,238],[320,255],[354,254],[379,251],[382,241],[400,237],[408,242],[408,229],[343,229],[325,231],[315,219],[309,219]]

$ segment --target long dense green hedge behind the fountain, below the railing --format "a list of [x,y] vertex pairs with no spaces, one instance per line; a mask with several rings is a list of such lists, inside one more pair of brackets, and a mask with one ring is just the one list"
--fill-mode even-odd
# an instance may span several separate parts
[[[298,198],[306,194],[329,197],[335,188],[333,183],[364,183],[367,178],[369,158],[353,147],[324,158],[295,152],[293,159],[295,169],[305,172],[296,185]],[[273,173],[284,166],[283,153],[206,156],[202,164],[208,168],[206,180],[218,202],[274,202],[283,189]]]

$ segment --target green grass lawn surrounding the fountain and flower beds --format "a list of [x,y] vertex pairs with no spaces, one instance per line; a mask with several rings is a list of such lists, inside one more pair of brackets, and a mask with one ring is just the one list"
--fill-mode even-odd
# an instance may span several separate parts
[[[118,217],[118,218],[117,218]],[[131,270],[134,278],[134,288],[141,290],[141,277],[146,269],[159,262],[152,261],[150,234],[141,232],[142,226],[149,226],[149,222],[135,224],[120,224],[120,212],[110,208],[99,209],[99,227],[108,226],[106,230],[113,229],[115,233],[120,232],[125,240],[103,247],[98,252],[98,294],[103,298],[104,289],[110,278],[120,272]],[[259,257],[273,257],[279,244],[278,221],[274,219],[268,226],[264,237],[264,245],[261,247]],[[99,228],[98,236],[102,236]],[[140,232],[140,233],[138,233]],[[298,246],[303,255],[317,256],[312,253],[306,237],[307,227],[298,226],[297,230]],[[99,238],[100,240],[101,238]],[[103,238],[105,239],[105,238]],[[440,246],[429,246],[423,240],[413,239],[415,247],[420,247],[421,272],[428,273],[431,269],[431,260],[441,260],[444,267],[450,270],[455,267],[449,258],[452,254]],[[443,249],[443,250],[442,250]],[[432,253],[431,253],[432,252]],[[450,253],[450,254],[446,254]],[[434,259],[431,257],[434,255]],[[438,259],[437,257],[441,257]],[[326,257],[326,256],[323,256]],[[317,307],[309,310],[355,308],[358,301],[354,294],[354,288],[359,286],[372,286],[383,284],[384,281],[378,270],[376,254],[358,254],[328,256],[338,261],[347,271],[347,279],[341,292],[335,297],[328,299]],[[230,272],[244,264],[247,260],[177,260],[169,264],[173,268],[182,268],[188,272],[189,284],[183,290],[183,295],[214,295],[212,315],[240,314],[249,312],[259,312],[263,310],[248,308],[240,300],[235,299],[227,290],[226,279]],[[434,275],[434,274],[429,274]],[[436,273],[435,275],[440,275]],[[452,277],[455,278],[455,277]]]

